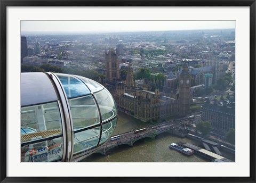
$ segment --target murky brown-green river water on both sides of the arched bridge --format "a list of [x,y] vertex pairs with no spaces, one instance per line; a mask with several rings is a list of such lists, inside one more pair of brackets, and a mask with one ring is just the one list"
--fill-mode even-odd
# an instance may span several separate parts
[[[113,135],[122,134],[126,131],[140,129],[151,125],[138,119],[124,114],[118,113],[118,121]],[[188,138],[180,138],[169,133],[163,133],[156,136],[155,139],[143,138],[133,144],[117,146],[110,149],[106,156],[99,153],[86,157],[82,162],[207,162],[197,155],[186,156],[173,149],[169,149],[171,143],[191,143],[194,142]]]

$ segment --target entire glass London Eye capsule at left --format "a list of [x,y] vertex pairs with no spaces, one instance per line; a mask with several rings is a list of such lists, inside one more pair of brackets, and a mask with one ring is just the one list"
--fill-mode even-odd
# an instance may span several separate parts
[[117,123],[109,91],[91,79],[21,73],[21,162],[77,162],[97,151]]

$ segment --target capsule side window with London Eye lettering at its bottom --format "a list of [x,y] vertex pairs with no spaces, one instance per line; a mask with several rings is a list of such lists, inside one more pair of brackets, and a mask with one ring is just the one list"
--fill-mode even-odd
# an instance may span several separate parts
[[62,160],[61,119],[58,102],[21,107],[21,162]]

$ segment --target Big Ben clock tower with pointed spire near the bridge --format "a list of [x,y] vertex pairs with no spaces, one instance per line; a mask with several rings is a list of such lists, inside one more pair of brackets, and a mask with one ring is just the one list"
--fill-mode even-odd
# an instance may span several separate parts
[[185,61],[179,77],[179,115],[182,117],[188,115],[190,111],[190,82],[188,65]]

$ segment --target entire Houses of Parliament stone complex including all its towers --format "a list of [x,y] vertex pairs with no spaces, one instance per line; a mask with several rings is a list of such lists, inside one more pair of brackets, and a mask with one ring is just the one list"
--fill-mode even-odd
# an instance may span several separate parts
[[[113,95],[118,109],[122,112],[144,122],[189,114],[191,77],[186,62],[179,76],[179,89],[173,93],[170,88],[170,93],[166,96],[158,88],[150,85],[135,86],[130,66],[126,80],[121,81],[118,54],[114,48],[105,51],[105,66],[104,85]],[[166,94],[166,91],[164,93]]]

